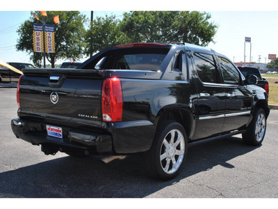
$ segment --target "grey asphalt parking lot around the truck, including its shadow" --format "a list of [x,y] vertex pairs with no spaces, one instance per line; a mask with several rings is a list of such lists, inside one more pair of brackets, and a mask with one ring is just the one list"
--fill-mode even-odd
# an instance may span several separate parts
[[0,88],[0,96],[0,197],[278,197],[278,110],[270,112],[261,146],[246,146],[240,135],[193,146],[179,176],[163,182],[147,176],[140,155],[109,164],[44,155],[11,130],[16,88]]

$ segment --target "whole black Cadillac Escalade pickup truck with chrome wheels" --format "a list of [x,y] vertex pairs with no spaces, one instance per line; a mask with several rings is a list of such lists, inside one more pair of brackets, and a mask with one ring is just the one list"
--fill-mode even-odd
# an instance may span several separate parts
[[15,136],[46,155],[142,154],[149,173],[174,178],[188,146],[242,134],[258,146],[266,92],[226,56],[190,44],[104,49],[81,69],[23,70]]

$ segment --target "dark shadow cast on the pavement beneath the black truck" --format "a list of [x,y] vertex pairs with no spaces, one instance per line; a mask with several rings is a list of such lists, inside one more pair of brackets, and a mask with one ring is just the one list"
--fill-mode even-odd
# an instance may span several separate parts
[[234,165],[228,163],[229,160],[256,148],[245,146],[237,137],[190,147],[181,173],[169,181],[149,178],[139,155],[127,157],[126,160],[114,160],[109,164],[104,164],[95,157],[76,158],[65,155],[0,173],[0,194],[52,198],[141,198],[219,165],[234,169]]

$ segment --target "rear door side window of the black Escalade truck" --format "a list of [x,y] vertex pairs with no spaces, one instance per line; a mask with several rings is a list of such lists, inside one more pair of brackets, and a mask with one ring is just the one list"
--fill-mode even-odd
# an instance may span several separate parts
[[218,83],[215,59],[210,54],[194,53],[199,79],[205,83]]

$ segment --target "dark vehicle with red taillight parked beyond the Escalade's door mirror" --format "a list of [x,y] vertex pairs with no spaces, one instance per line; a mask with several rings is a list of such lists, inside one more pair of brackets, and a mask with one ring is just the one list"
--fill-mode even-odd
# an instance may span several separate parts
[[248,75],[256,75],[256,77],[258,77],[258,82],[256,83],[256,86],[260,86],[266,91],[266,93],[269,93],[268,81],[261,77],[261,72],[258,68],[238,66],[238,69],[244,75],[244,77],[247,77]]

